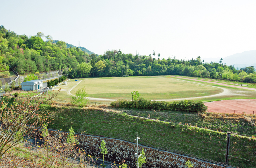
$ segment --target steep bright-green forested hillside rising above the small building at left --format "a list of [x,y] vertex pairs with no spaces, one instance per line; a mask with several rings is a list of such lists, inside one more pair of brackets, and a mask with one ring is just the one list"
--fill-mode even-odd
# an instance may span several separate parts
[[48,72],[63,68],[76,68],[86,62],[89,54],[77,47],[67,48],[65,42],[52,43],[51,36],[43,41],[44,34],[35,36],[17,35],[0,26],[0,71],[8,76],[8,65],[19,74]]

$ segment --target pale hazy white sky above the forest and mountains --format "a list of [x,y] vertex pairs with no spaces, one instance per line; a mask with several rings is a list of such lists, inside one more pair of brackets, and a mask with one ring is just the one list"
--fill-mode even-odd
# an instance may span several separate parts
[[256,50],[256,1],[2,1],[0,25],[19,35],[49,34],[103,54],[226,57]]

